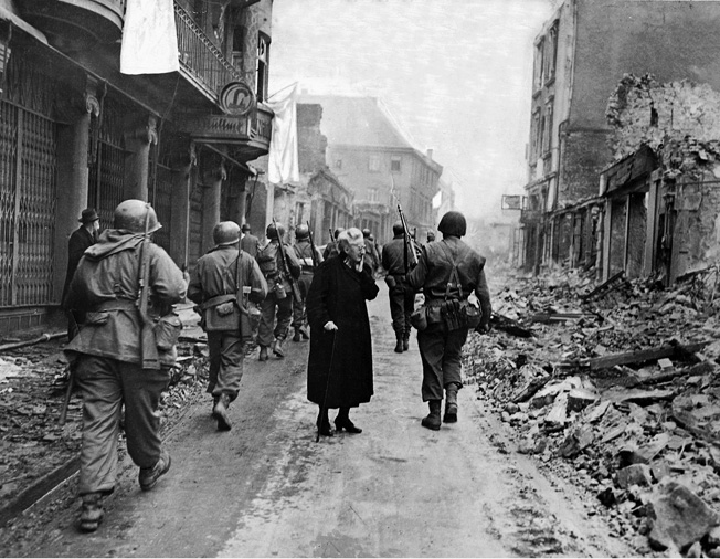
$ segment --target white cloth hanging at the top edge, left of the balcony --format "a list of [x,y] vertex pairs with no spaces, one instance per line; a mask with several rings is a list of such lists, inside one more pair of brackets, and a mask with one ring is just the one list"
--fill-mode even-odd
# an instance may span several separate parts
[[120,73],[165,74],[179,70],[173,0],[127,0]]

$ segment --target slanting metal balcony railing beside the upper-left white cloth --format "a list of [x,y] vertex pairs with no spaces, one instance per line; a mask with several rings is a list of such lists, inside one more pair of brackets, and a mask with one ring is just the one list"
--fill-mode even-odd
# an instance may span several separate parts
[[242,75],[177,2],[174,13],[180,66],[199,87],[216,101],[222,88],[230,82],[242,81]]

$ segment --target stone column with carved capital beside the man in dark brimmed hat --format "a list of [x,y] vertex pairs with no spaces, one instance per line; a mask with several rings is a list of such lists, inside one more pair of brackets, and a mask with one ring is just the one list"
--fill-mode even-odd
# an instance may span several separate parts
[[[60,303],[67,270],[67,240],[80,226],[77,221],[87,208],[88,169],[87,150],[89,146],[91,118],[100,114],[96,97],[96,84],[89,82],[84,97],[73,102],[73,112],[68,113],[75,120],[67,126],[60,126],[57,131],[57,201],[55,213],[55,274],[53,282],[54,298]],[[82,110],[76,112],[77,105]]]

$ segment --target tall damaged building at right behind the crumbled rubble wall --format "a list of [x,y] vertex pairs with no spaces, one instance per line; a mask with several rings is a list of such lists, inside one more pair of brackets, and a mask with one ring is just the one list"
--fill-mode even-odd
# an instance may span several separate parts
[[[594,267],[599,278],[656,270],[671,250],[658,231],[671,230],[675,215],[646,215],[650,184],[659,187],[649,169],[657,154],[640,143],[613,148],[608,98],[626,74],[717,88],[719,19],[717,2],[567,0],[543,25],[534,42],[522,267]],[[636,233],[648,226],[646,242]],[[668,268],[667,277],[679,274]]]

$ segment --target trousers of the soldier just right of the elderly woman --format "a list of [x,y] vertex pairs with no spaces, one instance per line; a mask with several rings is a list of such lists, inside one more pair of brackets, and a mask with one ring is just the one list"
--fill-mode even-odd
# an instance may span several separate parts
[[460,356],[467,339],[467,327],[448,330],[436,323],[417,333],[417,346],[423,361],[423,402],[442,400],[443,389],[451,382],[463,386]]

